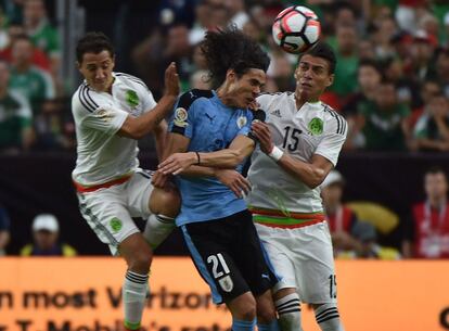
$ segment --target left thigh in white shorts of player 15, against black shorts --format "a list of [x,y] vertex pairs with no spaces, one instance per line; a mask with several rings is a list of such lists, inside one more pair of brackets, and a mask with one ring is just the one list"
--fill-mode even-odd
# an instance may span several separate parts
[[288,230],[259,224],[255,224],[255,227],[278,279],[273,292],[288,288],[296,289],[295,266],[290,250],[295,242],[293,239],[288,240]]

